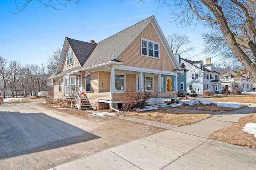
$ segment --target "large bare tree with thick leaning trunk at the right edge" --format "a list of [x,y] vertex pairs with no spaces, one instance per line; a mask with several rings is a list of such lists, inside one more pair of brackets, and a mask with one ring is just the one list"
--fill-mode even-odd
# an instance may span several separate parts
[[[256,79],[255,0],[157,0],[171,7],[172,21],[181,27],[196,25],[220,31],[236,59]],[[143,2],[143,0],[139,0]]]

